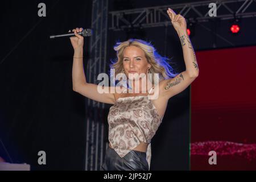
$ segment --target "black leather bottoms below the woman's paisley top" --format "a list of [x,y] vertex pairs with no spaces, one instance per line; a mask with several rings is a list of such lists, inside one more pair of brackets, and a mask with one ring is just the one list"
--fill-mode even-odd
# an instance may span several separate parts
[[148,171],[146,152],[131,150],[123,158],[108,147],[101,171]]

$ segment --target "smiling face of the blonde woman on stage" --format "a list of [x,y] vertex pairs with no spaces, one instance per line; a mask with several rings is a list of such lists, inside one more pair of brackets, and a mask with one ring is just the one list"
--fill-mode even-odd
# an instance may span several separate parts
[[141,48],[136,46],[125,48],[123,51],[123,69],[125,75],[129,77],[130,80],[137,80],[141,73],[147,74],[150,67],[151,65],[147,63],[145,53]]

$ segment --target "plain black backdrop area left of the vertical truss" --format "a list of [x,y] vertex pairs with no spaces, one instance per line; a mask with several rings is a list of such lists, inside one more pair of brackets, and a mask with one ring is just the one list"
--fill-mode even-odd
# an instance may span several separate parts
[[[38,4],[46,4],[46,17]],[[84,97],[72,90],[75,27],[89,28],[92,1],[5,1],[1,5],[0,156],[32,170],[84,169]],[[88,56],[88,39],[84,55]],[[85,60],[86,61],[86,60]],[[38,152],[46,152],[46,165]]]

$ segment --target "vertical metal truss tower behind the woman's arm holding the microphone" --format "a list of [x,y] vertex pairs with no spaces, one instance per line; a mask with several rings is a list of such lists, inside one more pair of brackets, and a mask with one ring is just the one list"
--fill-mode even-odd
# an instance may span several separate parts
[[[93,30],[90,38],[90,56],[86,64],[86,79],[97,83],[97,75],[106,73],[106,46],[108,32],[108,0],[92,2]],[[105,105],[90,99],[85,100],[86,108],[86,144],[85,170],[99,170],[104,160],[106,142],[104,141],[103,112]]]

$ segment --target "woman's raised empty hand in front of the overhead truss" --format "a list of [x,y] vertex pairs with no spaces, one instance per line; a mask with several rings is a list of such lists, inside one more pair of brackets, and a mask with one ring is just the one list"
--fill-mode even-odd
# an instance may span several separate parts
[[174,10],[170,8],[168,8],[167,14],[169,15],[172,25],[174,26],[177,32],[182,32],[182,31],[187,32],[187,22],[183,16],[181,16],[180,14],[176,15]]

